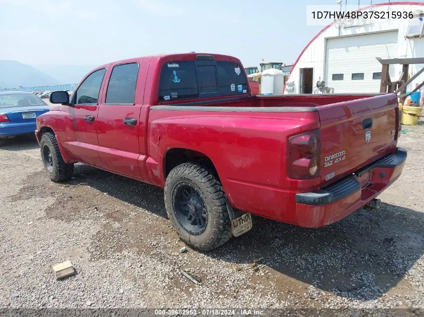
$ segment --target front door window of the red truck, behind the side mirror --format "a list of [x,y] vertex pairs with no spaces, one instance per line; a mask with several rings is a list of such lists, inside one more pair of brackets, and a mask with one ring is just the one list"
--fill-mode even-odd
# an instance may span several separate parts
[[75,92],[74,100],[77,105],[96,105],[99,100],[101,83],[106,69],[100,69],[90,74]]

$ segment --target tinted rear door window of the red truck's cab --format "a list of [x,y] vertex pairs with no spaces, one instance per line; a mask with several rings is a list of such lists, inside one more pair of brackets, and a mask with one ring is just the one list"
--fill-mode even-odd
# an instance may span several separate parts
[[113,67],[106,92],[106,104],[134,104],[138,64]]

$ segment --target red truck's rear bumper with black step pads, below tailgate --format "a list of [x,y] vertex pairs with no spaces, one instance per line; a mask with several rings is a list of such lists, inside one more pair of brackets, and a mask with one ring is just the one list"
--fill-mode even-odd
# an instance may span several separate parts
[[296,194],[298,225],[322,227],[338,221],[378,196],[402,173],[406,150],[398,148],[355,174],[322,190]]

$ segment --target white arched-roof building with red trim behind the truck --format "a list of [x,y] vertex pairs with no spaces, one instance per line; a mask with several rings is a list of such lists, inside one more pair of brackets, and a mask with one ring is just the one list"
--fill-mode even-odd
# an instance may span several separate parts
[[[361,8],[367,11],[412,12],[412,19],[345,19],[321,30],[295,62],[284,94],[313,93],[318,81],[334,93],[378,93],[381,64],[376,57],[424,58],[424,2],[395,2]],[[409,65],[413,76],[424,65]],[[397,81],[402,65],[390,66]],[[421,73],[408,87],[424,80]]]

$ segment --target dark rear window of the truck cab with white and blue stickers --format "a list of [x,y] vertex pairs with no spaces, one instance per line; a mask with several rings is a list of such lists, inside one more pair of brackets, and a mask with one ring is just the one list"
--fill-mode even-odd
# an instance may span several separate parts
[[159,102],[249,92],[241,65],[227,61],[173,61],[162,66]]

